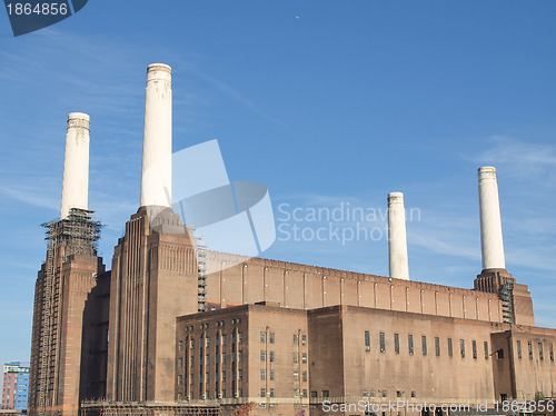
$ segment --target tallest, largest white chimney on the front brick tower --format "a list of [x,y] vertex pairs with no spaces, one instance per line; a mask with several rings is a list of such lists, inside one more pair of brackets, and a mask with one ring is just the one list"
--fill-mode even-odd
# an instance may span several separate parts
[[141,207],[171,206],[172,90],[171,68],[147,68],[142,141]]

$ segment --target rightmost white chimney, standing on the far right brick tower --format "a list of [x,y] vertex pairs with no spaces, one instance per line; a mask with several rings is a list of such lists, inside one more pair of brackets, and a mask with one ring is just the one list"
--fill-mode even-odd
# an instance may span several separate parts
[[479,168],[480,249],[483,270],[506,269],[496,168]]

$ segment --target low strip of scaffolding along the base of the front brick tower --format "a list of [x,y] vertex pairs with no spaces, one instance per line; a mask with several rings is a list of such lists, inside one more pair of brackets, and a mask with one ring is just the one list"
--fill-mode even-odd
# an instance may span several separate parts
[[81,416],[221,416],[217,404],[83,402]]

